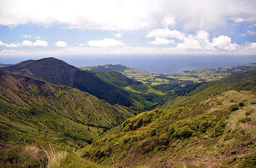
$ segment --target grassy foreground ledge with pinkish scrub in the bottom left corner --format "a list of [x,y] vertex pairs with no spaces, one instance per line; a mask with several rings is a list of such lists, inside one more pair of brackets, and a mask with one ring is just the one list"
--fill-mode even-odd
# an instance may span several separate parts
[[106,168],[80,158],[74,148],[47,142],[33,145],[5,145],[0,148],[0,167],[85,167]]

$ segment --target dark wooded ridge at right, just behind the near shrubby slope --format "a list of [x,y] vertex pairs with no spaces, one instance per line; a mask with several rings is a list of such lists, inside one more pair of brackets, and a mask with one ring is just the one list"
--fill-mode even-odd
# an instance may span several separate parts
[[238,72],[218,81],[195,83],[184,88],[176,88],[171,100],[162,108],[189,106],[229,90],[256,91],[256,71]]

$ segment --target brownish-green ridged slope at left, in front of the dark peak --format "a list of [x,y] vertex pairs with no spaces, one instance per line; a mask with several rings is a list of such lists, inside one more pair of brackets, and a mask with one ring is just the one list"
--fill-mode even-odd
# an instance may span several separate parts
[[83,146],[133,116],[86,92],[7,71],[0,71],[0,93],[1,143]]

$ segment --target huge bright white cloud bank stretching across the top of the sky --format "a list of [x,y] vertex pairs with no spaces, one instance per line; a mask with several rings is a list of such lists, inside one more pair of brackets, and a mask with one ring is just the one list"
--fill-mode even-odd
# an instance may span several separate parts
[[255,4],[250,0],[8,0],[1,2],[0,24],[64,24],[78,29],[134,31],[180,23],[185,30],[207,31],[225,26],[228,18],[236,22],[255,22]]

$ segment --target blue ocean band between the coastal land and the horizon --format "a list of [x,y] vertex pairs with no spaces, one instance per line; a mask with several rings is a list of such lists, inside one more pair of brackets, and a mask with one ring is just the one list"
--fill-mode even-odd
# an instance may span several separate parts
[[[49,56],[48,56],[49,57]],[[201,68],[222,68],[256,63],[256,55],[76,55],[52,56],[75,67],[121,64],[127,67],[157,73],[173,73]],[[45,57],[6,57],[2,64],[16,64],[29,59]]]

